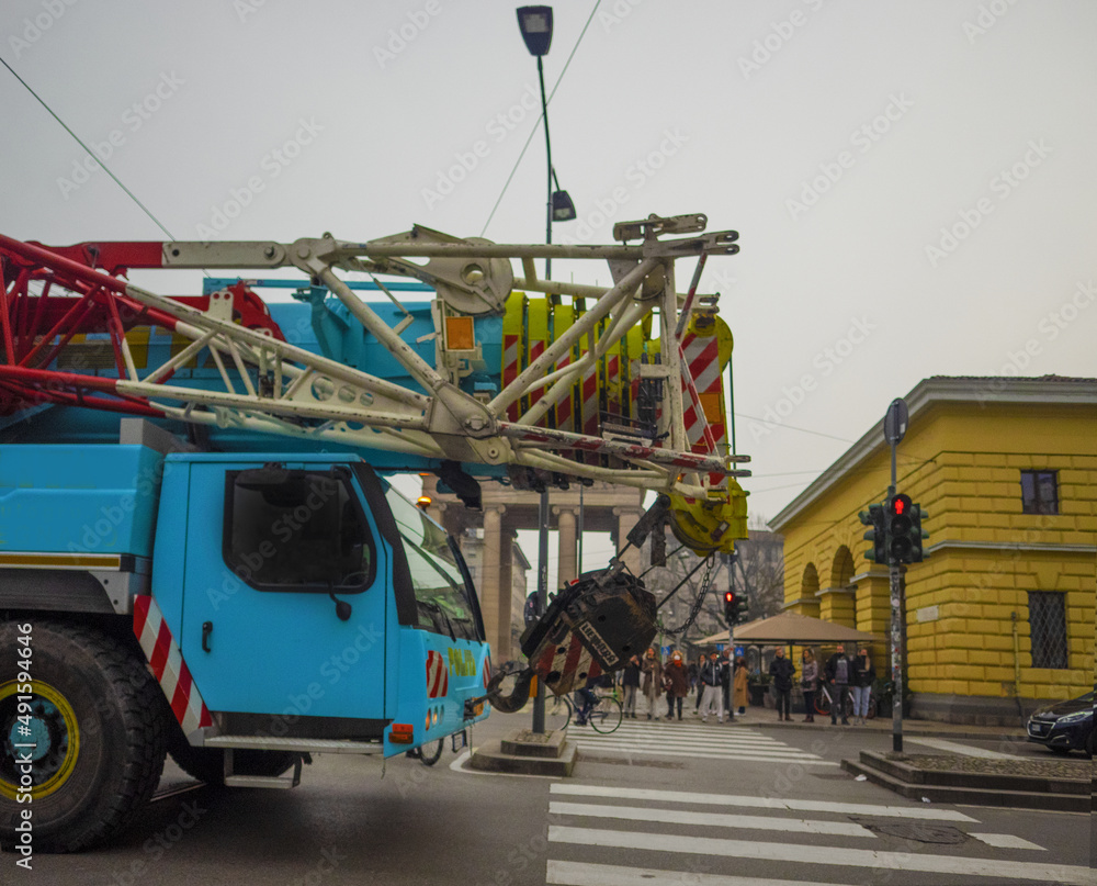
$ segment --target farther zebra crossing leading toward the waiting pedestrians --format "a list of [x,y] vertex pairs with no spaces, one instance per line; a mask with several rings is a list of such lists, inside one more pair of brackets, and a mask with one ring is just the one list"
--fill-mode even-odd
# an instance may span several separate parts
[[570,726],[568,741],[579,753],[619,753],[652,756],[688,756],[700,760],[742,760],[755,763],[801,763],[837,766],[818,754],[802,751],[757,729],[716,724],[649,724],[625,720],[608,736],[589,727]]

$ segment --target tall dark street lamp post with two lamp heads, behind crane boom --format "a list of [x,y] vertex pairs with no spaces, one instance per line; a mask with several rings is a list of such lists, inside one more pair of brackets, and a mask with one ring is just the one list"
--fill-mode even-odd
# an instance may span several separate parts
[[[545,206],[545,243],[552,243],[552,223],[568,222],[575,217],[575,205],[567,191],[559,190],[556,170],[552,166],[552,142],[548,138],[548,101],[545,98],[545,75],[541,58],[552,45],[552,7],[521,7],[518,10],[518,26],[525,41],[525,48],[538,59],[538,80],[541,83],[541,115],[545,124],[545,157],[547,160],[547,200]],[[553,182],[556,189],[553,190]],[[545,280],[552,279],[552,259],[545,258]],[[548,487],[541,490],[539,507],[541,531],[538,537],[538,608],[545,612],[548,606]],[[533,731],[545,731],[545,687],[538,681],[538,694],[533,699]]]

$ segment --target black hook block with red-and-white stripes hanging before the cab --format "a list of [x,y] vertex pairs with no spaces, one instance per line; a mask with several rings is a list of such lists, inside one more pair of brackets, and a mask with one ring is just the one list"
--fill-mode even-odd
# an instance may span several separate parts
[[522,635],[522,652],[553,695],[624,668],[655,637],[655,595],[614,567],[588,572],[556,594]]

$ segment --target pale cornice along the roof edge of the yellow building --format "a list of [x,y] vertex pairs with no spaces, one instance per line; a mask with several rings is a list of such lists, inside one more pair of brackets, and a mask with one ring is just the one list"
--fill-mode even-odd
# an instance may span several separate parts
[[[949,378],[935,375],[914,386],[906,401],[909,422],[939,403],[987,404],[1033,403],[1042,406],[1097,406],[1097,379],[1009,379]],[[769,526],[777,531],[837,486],[853,468],[887,448],[884,420],[875,423],[837,461],[819,474],[800,495],[793,498]]]

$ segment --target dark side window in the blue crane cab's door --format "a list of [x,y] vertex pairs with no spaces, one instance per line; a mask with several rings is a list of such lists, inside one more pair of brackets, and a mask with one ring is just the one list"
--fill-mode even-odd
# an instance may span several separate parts
[[225,563],[258,591],[357,594],[376,550],[350,474],[267,466],[225,474]]

